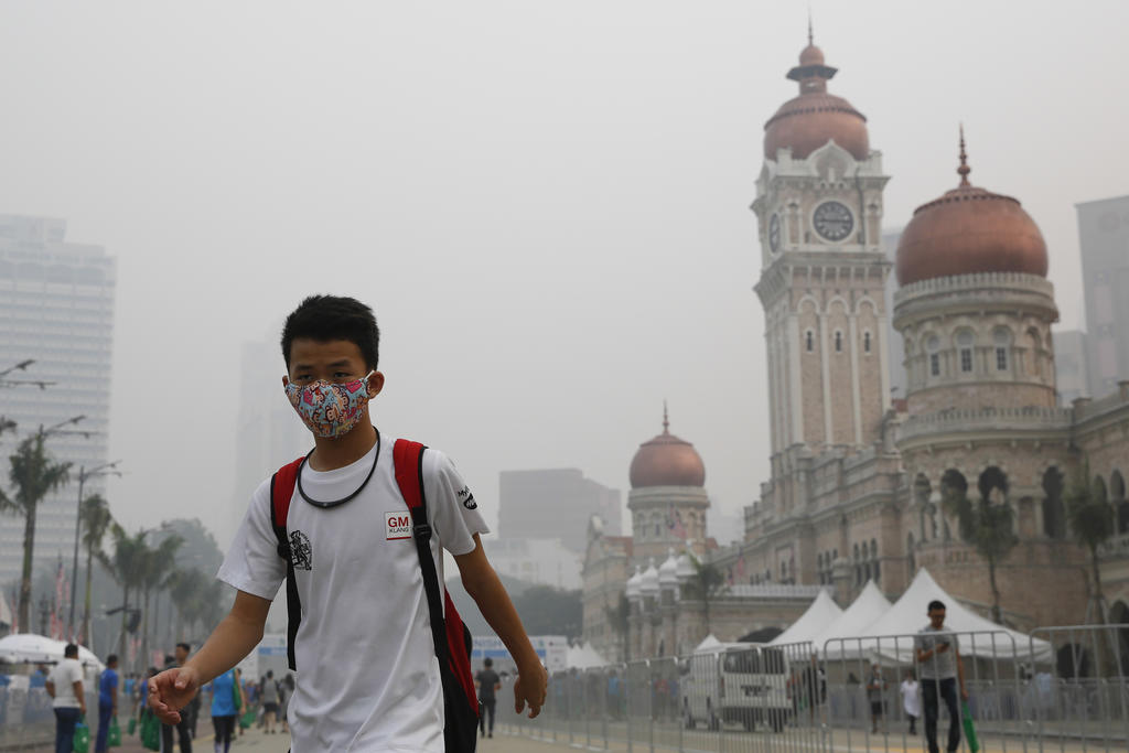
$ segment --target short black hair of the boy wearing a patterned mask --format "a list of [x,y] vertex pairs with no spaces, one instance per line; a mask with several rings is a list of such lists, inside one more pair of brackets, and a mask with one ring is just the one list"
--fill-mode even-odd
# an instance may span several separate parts
[[356,298],[309,296],[290,312],[282,325],[282,358],[290,368],[290,345],[299,338],[315,342],[345,340],[360,349],[365,366],[376,369],[380,329],[373,309]]

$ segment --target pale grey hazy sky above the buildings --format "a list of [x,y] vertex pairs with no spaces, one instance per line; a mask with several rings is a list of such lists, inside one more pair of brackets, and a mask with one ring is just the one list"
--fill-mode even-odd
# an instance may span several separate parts
[[[117,257],[114,514],[230,518],[240,342],[312,292],[374,306],[378,424],[450,454],[488,520],[502,470],[625,491],[664,397],[715,501],[753,501],[747,207],[806,5],[0,5],[0,211]],[[963,121],[1077,326],[1074,204],[1129,193],[1129,3],[812,6],[893,176],[885,225],[956,185]]]

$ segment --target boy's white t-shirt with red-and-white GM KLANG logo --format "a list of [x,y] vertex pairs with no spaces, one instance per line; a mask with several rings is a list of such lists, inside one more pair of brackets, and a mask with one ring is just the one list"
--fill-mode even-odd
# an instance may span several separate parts
[[[338,500],[361,485],[378,452],[373,478],[352,500],[320,508],[297,485],[290,500],[287,532],[301,601],[288,713],[294,753],[444,752],[443,683],[410,514],[396,485],[394,443],[380,437],[343,469],[303,469],[307,496]],[[255,490],[218,576],[263,598],[274,598],[286,578],[271,528],[270,485],[268,479]],[[440,545],[466,554],[473,535],[489,529],[463,478],[436,449],[423,453],[423,492],[441,589]]]

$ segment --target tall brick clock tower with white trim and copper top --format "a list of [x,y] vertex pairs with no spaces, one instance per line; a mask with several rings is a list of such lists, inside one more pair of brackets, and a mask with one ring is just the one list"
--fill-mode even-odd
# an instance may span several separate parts
[[872,447],[890,408],[891,264],[881,233],[889,177],[881,152],[870,149],[866,117],[828,93],[835,72],[809,34],[799,65],[788,71],[799,96],[764,125],[752,205],[778,481],[802,457]]

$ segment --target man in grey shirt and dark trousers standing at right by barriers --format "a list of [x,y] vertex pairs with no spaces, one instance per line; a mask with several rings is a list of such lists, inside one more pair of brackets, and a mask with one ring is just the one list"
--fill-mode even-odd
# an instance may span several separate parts
[[961,698],[969,699],[964,688],[964,664],[961,662],[960,642],[945,625],[945,603],[929,602],[929,624],[918,631],[913,648],[921,677],[921,702],[925,707],[925,738],[929,753],[937,748],[937,716],[939,701],[948,709],[948,753],[961,746],[961,707],[956,699],[957,683]]

